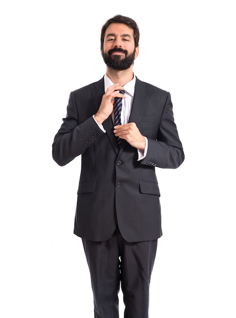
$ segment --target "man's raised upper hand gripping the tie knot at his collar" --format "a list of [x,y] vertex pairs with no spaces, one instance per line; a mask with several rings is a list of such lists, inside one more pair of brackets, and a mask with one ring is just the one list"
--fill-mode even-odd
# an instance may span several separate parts
[[104,120],[106,120],[113,111],[113,104],[115,97],[126,98],[124,94],[120,93],[120,90],[124,90],[123,86],[120,86],[119,83],[111,85],[105,94],[102,97],[102,102],[99,107],[99,110],[94,115],[98,124],[102,124]]

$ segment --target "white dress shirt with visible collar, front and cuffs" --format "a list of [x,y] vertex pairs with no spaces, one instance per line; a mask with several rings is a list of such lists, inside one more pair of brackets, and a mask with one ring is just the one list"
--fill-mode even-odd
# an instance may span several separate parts
[[[122,99],[122,111],[121,111],[121,123],[122,124],[129,122],[131,109],[132,109],[132,105],[133,105],[133,99],[134,99],[135,82],[136,82],[136,76],[134,75],[133,79],[123,86],[125,88],[125,91],[126,91],[125,92],[126,98]],[[104,90],[105,90],[105,92],[106,92],[107,88],[113,84],[114,83],[112,83],[112,81],[109,79],[109,77],[105,74],[104,75]],[[112,112],[111,117],[112,117],[112,120],[114,122],[114,111]],[[93,116],[93,118],[94,118],[94,116]],[[94,118],[94,120],[95,120],[95,118]],[[103,125],[99,125],[99,127],[104,133],[106,132],[103,128]],[[144,152],[137,149],[138,161],[142,160],[146,156],[146,153],[147,153],[147,138],[146,137],[145,137],[145,140],[146,140],[146,145],[145,145]]]

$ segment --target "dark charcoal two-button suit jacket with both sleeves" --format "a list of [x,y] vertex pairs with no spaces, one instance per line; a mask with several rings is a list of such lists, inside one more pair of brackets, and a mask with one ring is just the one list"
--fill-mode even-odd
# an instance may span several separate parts
[[177,168],[184,160],[170,93],[136,79],[129,122],[148,139],[142,161],[125,140],[119,150],[111,116],[103,122],[106,133],[93,119],[103,94],[103,78],[71,92],[53,143],[53,158],[60,166],[82,154],[74,234],[103,241],[118,224],[129,242],[158,239],[162,229],[155,167]]

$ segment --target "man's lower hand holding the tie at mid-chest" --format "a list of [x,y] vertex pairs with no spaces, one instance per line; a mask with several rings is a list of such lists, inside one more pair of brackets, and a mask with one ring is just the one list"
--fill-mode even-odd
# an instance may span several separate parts
[[116,137],[125,139],[131,146],[144,151],[146,140],[145,137],[140,133],[135,122],[114,126],[113,132]]

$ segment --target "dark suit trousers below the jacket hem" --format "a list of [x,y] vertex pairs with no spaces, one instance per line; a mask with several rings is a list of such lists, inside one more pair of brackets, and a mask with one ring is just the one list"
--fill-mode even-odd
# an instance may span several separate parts
[[149,284],[158,240],[127,242],[117,228],[107,241],[83,240],[95,318],[118,318],[120,284],[125,318],[148,318]]

